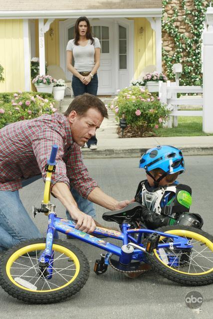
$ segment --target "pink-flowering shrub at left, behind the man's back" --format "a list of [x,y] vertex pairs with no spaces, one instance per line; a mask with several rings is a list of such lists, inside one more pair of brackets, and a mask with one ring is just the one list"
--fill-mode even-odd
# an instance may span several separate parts
[[52,94],[37,92],[0,93],[0,128],[6,124],[55,112]]

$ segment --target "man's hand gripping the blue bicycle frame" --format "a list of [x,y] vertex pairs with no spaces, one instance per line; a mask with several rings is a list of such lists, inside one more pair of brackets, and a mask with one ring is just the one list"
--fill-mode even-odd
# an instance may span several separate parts
[[85,233],[92,233],[95,230],[96,224],[94,219],[79,209],[72,211],[70,216],[76,221],[76,229],[84,231]]

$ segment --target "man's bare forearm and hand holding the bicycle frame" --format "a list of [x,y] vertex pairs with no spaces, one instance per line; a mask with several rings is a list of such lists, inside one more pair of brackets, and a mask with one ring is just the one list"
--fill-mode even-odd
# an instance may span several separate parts
[[72,219],[76,220],[77,229],[84,232],[93,232],[95,230],[95,222],[91,216],[79,210],[70,190],[66,183],[56,182],[51,189],[53,195],[60,200],[64,207],[68,210]]

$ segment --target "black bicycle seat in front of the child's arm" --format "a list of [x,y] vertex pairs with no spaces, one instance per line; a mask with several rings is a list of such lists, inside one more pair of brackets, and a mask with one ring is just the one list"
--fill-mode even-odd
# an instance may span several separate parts
[[106,221],[115,221],[118,224],[122,224],[125,219],[130,222],[136,218],[141,209],[142,205],[140,203],[133,202],[120,210],[107,211],[102,217]]

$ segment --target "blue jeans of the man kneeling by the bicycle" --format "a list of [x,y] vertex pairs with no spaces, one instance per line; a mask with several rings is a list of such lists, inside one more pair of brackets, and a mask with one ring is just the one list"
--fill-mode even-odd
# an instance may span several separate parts
[[[82,198],[79,193],[72,189],[78,207],[86,214],[95,217],[93,203]],[[71,219],[67,212],[68,219]],[[0,191],[0,251],[33,238],[42,237],[27,211],[25,210],[18,190]]]

